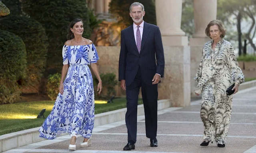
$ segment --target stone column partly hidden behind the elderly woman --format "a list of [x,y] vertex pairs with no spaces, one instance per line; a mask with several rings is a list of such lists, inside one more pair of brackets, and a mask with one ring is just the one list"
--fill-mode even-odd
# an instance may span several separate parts
[[191,96],[195,97],[194,90],[197,82],[194,81],[194,76],[199,67],[202,57],[202,48],[204,43],[211,39],[206,36],[205,29],[211,20],[216,20],[217,16],[217,0],[194,0],[194,22],[195,33],[190,38],[190,80],[191,80]]

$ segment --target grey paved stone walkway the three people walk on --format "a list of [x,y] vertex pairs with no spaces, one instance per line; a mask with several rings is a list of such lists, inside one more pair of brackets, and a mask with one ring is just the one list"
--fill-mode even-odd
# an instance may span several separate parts
[[[234,95],[231,124],[225,148],[210,143],[200,147],[203,124],[200,119],[200,103],[196,100],[185,108],[168,108],[158,112],[158,147],[149,147],[145,134],[144,116],[138,116],[138,136],[135,150],[122,151],[127,143],[125,121],[94,128],[92,146],[80,147],[77,139],[73,153],[256,153],[256,87],[239,91]],[[33,143],[5,153],[68,153],[70,136]]]

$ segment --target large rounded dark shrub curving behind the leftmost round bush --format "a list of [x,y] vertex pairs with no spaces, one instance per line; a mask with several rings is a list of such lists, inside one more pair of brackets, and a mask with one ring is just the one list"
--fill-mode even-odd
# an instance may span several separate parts
[[44,28],[34,19],[10,15],[0,20],[0,29],[18,35],[24,41],[27,51],[27,77],[24,85],[37,86],[46,65],[48,39]]

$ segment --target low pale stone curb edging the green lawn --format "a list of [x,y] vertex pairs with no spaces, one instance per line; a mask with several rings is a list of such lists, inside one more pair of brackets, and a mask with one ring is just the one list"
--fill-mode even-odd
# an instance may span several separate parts
[[[170,105],[171,103],[170,100],[168,99],[158,100],[158,110],[169,108]],[[110,112],[96,114],[94,118],[94,127],[124,120],[126,110],[126,108],[122,108],[119,110],[113,110]],[[141,116],[143,114],[144,106],[143,104],[140,104],[138,105],[138,116]],[[0,135],[0,152],[8,151],[10,149],[46,140],[44,138],[39,137],[39,128],[40,127]],[[61,135],[58,136],[67,134],[68,133],[62,133]]]

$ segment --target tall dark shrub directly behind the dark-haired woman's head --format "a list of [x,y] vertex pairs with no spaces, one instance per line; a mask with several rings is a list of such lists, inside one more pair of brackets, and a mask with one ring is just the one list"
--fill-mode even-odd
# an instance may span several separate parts
[[36,19],[46,30],[49,39],[47,72],[54,74],[62,68],[62,46],[67,28],[74,18],[84,22],[83,37],[90,37],[86,0],[22,0],[22,10]]

